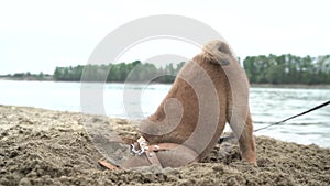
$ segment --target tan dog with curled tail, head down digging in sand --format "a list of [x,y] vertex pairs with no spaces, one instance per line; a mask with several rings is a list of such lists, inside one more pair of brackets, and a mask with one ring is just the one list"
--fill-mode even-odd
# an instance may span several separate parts
[[[249,80],[229,45],[216,40],[184,65],[155,113],[141,122],[142,143],[148,147],[140,143],[142,153],[122,166],[148,166],[151,156],[156,156],[162,167],[199,162],[216,145],[227,122],[239,141],[242,158],[256,165]],[[176,145],[160,151],[165,143]],[[144,155],[141,149],[150,147],[153,150]]]

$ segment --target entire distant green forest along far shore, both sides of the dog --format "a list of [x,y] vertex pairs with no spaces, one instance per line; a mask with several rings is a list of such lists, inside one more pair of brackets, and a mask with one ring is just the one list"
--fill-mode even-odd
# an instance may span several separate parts
[[[84,77],[88,78],[82,80],[87,81],[141,83],[153,80],[167,84],[174,81],[175,75],[184,64],[182,62],[177,65],[167,64],[163,67],[156,67],[154,64],[135,61],[110,65],[56,67],[53,76],[21,73],[7,75],[6,77],[14,77],[15,79],[35,77],[37,80],[80,81],[84,72],[86,75]],[[292,54],[249,56],[243,59],[243,64],[251,84],[330,84],[330,55],[318,57],[299,57]]]

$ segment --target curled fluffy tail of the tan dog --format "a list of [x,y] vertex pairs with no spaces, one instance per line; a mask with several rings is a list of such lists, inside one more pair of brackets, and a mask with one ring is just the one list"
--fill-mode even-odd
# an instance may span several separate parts
[[211,63],[219,65],[229,65],[232,59],[232,53],[227,43],[215,40],[204,46],[202,55]]

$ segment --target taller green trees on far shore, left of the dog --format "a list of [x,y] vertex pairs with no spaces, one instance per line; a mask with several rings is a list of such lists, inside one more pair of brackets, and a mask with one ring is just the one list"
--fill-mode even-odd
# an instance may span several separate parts
[[[56,67],[53,78],[62,81],[107,81],[107,83],[141,83],[155,81],[168,84],[173,83],[178,70],[184,66],[182,62],[174,66],[156,67],[154,64],[141,63],[120,63],[109,65],[78,65],[69,67]],[[82,78],[82,79],[81,79]]]

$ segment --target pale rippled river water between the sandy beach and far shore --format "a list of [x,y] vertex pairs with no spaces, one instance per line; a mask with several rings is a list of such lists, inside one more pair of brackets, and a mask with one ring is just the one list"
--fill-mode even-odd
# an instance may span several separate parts
[[[92,89],[100,85],[87,86]],[[80,83],[0,80],[0,105],[81,111],[80,87]],[[102,87],[101,103],[109,117],[142,119],[155,111],[169,88],[170,85],[162,84],[106,84]],[[98,100],[86,96],[82,99],[90,102]],[[286,119],[327,100],[330,100],[329,89],[251,88],[250,106],[254,128]],[[255,134],[330,147],[330,106]]]

